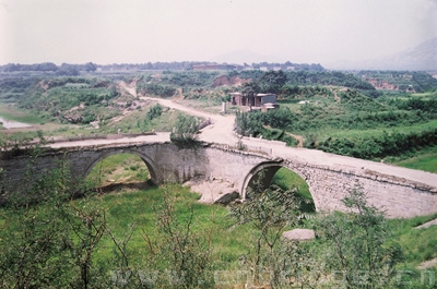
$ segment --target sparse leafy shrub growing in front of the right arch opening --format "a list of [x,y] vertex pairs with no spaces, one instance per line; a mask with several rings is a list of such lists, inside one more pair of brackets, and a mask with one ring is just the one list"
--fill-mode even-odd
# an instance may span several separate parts
[[[295,192],[276,185],[262,189],[256,183],[247,192],[247,202],[229,207],[229,215],[236,220],[234,226],[249,225],[252,230],[255,252],[248,254],[246,265],[253,270],[257,285],[269,282],[280,286],[284,282],[284,273],[297,276],[297,268],[311,266],[305,249],[281,238],[284,228],[296,226],[303,216]],[[300,265],[296,266],[296,263]],[[307,282],[295,280],[294,284],[300,281]]]

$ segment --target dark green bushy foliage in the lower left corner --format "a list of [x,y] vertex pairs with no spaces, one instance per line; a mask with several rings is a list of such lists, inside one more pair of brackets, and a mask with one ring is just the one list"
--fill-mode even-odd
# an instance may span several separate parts
[[[39,150],[32,154],[25,185],[9,192],[2,209],[0,288],[107,288],[106,264],[93,263],[106,234],[105,208],[83,195],[66,162],[35,181]],[[74,194],[85,197],[75,203]]]

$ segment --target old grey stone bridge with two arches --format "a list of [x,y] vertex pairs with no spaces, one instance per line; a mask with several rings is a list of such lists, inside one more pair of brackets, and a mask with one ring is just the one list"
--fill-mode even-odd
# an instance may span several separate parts
[[[275,158],[265,154],[229,149],[204,143],[196,148],[178,148],[175,144],[137,143],[69,148],[45,148],[34,160],[34,179],[67,160],[73,178],[83,178],[102,159],[121,153],[140,156],[149,168],[152,181],[185,182],[193,177],[211,176],[234,184],[245,197],[248,186],[257,181],[268,186],[274,173],[285,167],[299,174],[309,186],[318,212],[344,210],[341,200],[359,185],[368,202],[382,208],[389,217],[412,217],[437,212],[437,185],[423,183],[364,168],[321,166],[303,162],[295,157]],[[19,190],[26,172],[28,155],[0,155],[2,191]],[[259,173],[263,171],[263,173]],[[424,172],[426,173],[426,172]],[[428,173],[432,178],[437,174]]]

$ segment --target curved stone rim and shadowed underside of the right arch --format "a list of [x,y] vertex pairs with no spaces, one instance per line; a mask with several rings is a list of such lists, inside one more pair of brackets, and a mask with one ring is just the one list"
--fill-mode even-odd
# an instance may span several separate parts
[[287,166],[284,166],[283,160],[263,161],[263,162],[260,162],[257,166],[255,166],[249,171],[249,173],[245,177],[245,180],[244,180],[243,186],[241,186],[241,191],[240,191],[241,198],[244,198],[244,200],[246,198],[246,191],[248,188],[253,188],[255,185],[259,185],[259,186],[261,186],[261,189],[269,188],[270,184],[272,183],[274,174],[281,168],[285,168],[285,169],[293,171],[308,184],[308,190],[312,196],[312,201],[314,201],[316,210],[319,210],[317,196],[316,196],[314,190],[311,189],[311,186],[309,185],[309,183],[307,182],[307,177],[298,170],[294,170],[294,169],[288,168]]

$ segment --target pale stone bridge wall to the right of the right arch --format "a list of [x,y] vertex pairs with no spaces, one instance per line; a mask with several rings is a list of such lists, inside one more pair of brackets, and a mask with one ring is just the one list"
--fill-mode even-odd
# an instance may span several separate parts
[[411,218],[437,212],[435,188],[369,172],[334,170],[291,160],[284,161],[284,166],[305,177],[320,212],[346,210],[341,200],[356,188],[362,188],[369,204],[385,210],[387,217]]

